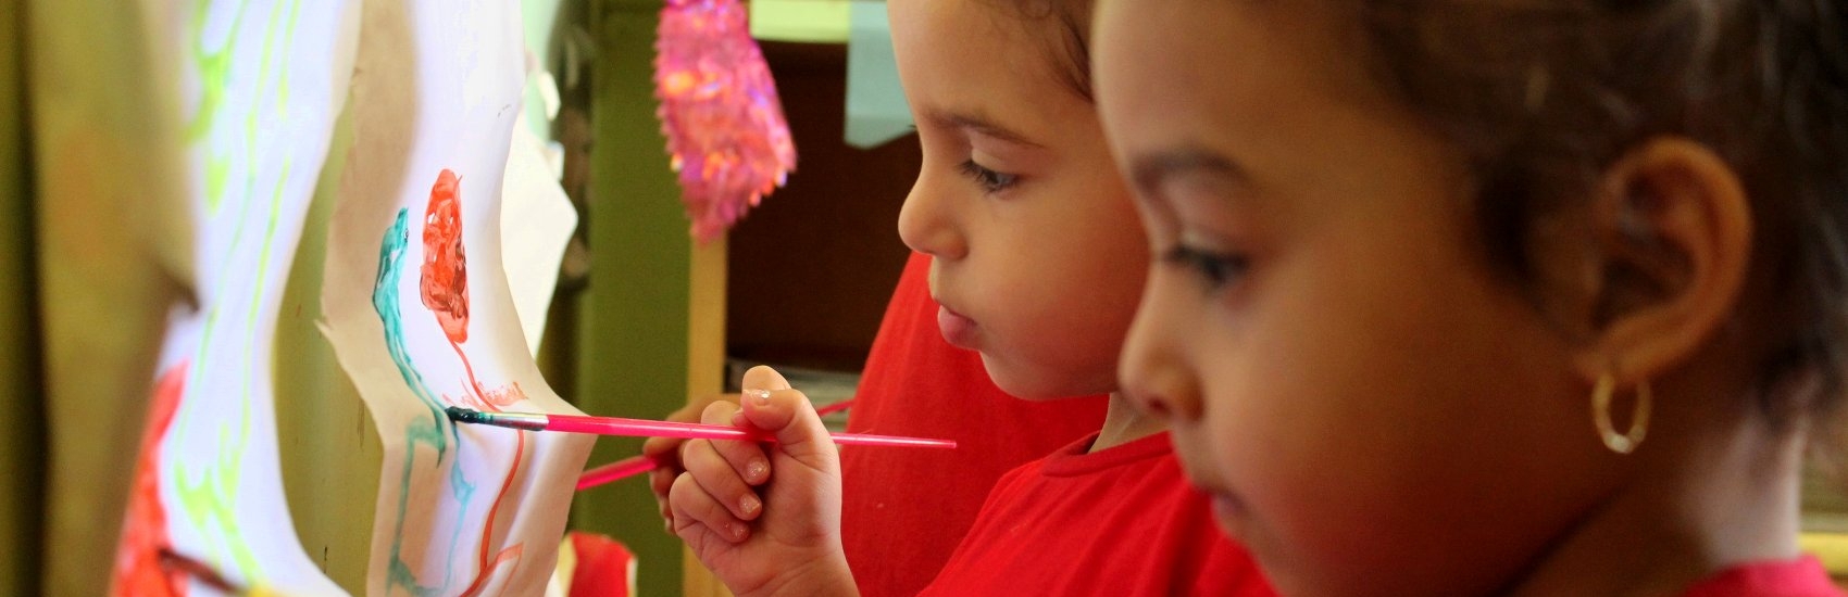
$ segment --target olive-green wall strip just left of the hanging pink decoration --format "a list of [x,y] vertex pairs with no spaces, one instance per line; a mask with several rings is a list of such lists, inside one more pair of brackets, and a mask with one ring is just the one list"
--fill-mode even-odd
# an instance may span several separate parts
[[[601,0],[591,9],[591,275],[578,304],[575,398],[595,415],[663,416],[687,394],[691,240],[654,118],[660,9],[660,0]],[[601,439],[590,466],[639,451],[641,440]],[[580,494],[573,527],[626,544],[641,564],[641,595],[680,593],[680,540],[662,531],[647,483]]]

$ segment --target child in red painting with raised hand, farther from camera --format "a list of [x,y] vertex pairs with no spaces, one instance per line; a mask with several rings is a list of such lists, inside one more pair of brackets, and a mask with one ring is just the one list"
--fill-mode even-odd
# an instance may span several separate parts
[[[944,339],[979,352],[1016,396],[1114,391],[1148,265],[1088,101],[1088,6],[889,9],[924,146],[900,236],[933,256]],[[743,387],[741,411],[721,402],[704,420],[778,442],[682,444],[675,531],[739,595],[854,593],[833,444],[772,370],[750,370]],[[924,595],[1268,595],[1210,518],[1161,426],[1112,396],[1100,433],[1002,477]]]

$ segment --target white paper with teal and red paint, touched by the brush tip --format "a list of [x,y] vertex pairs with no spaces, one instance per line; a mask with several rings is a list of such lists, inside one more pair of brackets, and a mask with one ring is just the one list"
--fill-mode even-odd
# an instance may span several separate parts
[[[577,413],[540,378],[499,260],[523,79],[512,0],[366,2],[322,328],[384,444],[368,595],[541,593],[590,453],[590,437],[442,413]],[[445,170],[468,256],[464,341],[421,300],[425,210]]]

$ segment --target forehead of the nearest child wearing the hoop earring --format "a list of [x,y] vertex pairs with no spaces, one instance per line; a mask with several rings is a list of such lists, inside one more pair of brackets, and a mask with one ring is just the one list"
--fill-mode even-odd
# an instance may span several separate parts
[[1338,2],[1103,0],[1092,42],[1098,109],[1122,153],[1316,144],[1308,131],[1393,103]]

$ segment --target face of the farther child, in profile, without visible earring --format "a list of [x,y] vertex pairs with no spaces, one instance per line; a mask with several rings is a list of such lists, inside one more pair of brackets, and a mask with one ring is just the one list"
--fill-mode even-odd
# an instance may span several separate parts
[[889,11],[924,146],[898,232],[935,256],[944,337],[1022,398],[1114,391],[1146,240],[1096,111],[1057,77],[1057,20],[976,0]]

